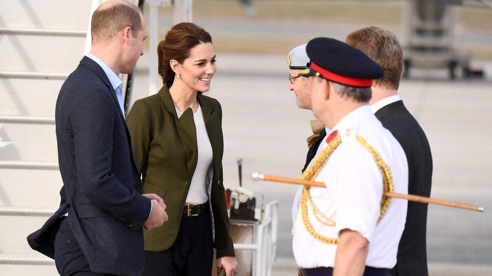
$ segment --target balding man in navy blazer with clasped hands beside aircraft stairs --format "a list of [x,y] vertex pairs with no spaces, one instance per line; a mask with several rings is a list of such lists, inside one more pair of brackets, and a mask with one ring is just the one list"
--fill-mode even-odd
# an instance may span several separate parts
[[140,275],[142,227],[167,220],[163,200],[142,195],[118,77],[143,54],[145,19],[138,7],[109,1],[94,12],[91,33],[90,53],[56,102],[61,206],[28,240],[61,275]]

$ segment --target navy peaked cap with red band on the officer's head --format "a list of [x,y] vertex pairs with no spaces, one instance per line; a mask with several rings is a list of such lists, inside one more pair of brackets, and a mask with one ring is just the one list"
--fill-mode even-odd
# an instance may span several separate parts
[[383,68],[364,52],[333,38],[312,39],[306,52],[311,63],[300,76],[317,75],[348,86],[371,87],[373,79],[384,75]]

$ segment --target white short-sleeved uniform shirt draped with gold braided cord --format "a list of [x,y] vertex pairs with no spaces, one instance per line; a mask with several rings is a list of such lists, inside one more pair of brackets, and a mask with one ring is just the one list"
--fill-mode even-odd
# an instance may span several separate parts
[[[367,105],[345,116],[333,130],[338,130],[342,142],[315,179],[325,182],[328,188],[313,187],[310,193],[315,206],[333,219],[336,226],[318,222],[308,204],[311,225],[326,237],[336,238],[343,229],[358,232],[369,242],[365,264],[392,268],[396,264],[398,243],[405,227],[407,202],[392,199],[378,222],[383,175],[372,154],[357,142],[356,136],[364,138],[389,166],[395,193],[406,194],[408,191],[405,152]],[[335,264],[337,245],[315,239],[307,232],[302,220],[296,226],[292,247],[300,267],[333,267]]]

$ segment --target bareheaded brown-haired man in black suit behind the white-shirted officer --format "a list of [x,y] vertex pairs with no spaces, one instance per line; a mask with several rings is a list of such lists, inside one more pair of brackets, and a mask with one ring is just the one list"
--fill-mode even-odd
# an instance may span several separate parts
[[[352,32],[346,42],[371,57],[385,70],[375,80],[369,104],[383,126],[398,140],[408,160],[408,193],[429,197],[432,183],[432,154],[424,131],[403,105],[398,86],[403,70],[403,50],[389,30],[368,27]],[[405,230],[398,246],[393,276],[428,275],[426,227],[427,204],[408,202]]]

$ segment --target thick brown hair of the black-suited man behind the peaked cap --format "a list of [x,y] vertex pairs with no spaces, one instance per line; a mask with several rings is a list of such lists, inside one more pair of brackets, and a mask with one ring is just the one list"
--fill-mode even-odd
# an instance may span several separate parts
[[383,78],[374,80],[375,85],[398,89],[403,70],[403,50],[392,32],[372,26],[352,32],[345,41],[383,67],[385,74]]

